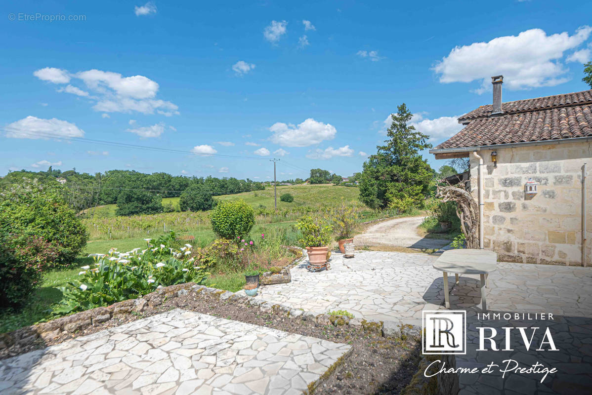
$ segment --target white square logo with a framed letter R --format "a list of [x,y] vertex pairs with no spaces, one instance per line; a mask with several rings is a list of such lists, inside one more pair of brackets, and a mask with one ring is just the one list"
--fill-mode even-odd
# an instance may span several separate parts
[[466,311],[422,311],[423,354],[466,354]]

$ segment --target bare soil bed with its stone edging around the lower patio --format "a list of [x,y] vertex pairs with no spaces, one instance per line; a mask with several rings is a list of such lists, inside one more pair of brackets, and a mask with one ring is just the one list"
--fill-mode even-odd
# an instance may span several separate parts
[[8,346],[0,359],[176,308],[352,345],[349,357],[311,384],[309,393],[399,393],[417,371],[417,339],[384,337],[381,322],[313,315],[192,283],[10,332],[0,339]]

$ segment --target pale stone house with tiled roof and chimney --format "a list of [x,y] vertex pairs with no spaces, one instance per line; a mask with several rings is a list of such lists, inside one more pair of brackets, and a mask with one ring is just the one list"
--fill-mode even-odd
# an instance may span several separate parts
[[500,261],[592,265],[592,90],[502,103],[503,77],[492,79],[493,104],[430,150],[469,157],[481,248]]

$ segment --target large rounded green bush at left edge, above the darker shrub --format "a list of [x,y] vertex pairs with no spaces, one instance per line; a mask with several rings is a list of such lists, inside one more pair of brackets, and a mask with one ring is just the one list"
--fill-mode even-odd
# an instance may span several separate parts
[[69,264],[86,245],[88,231],[66,203],[57,182],[24,180],[0,192],[0,229],[21,229],[57,250],[49,266]]

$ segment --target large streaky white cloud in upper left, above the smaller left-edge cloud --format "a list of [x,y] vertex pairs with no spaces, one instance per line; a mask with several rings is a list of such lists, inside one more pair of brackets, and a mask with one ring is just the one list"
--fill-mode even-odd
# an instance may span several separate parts
[[92,107],[101,112],[141,112],[142,114],[157,114],[172,116],[179,114],[179,107],[171,102],[156,99],[159,85],[144,76],[124,77],[119,73],[104,72],[102,70],[86,70],[69,74],[66,70],[45,69],[33,73],[38,78],[53,83],[67,83],[70,77],[82,80],[86,87],[93,90],[97,96],[90,96],[88,92],[69,85],[59,89],[59,92],[73,93],[87,96],[95,102]]

